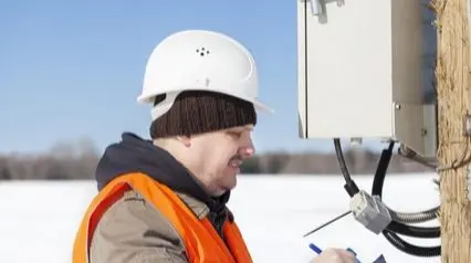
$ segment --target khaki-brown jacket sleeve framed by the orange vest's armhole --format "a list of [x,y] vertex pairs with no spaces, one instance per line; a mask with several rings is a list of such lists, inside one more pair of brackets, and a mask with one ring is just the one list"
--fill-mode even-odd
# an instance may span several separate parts
[[91,263],[188,262],[176,230],[135,191],[128,191],[103,214],[90,256]]

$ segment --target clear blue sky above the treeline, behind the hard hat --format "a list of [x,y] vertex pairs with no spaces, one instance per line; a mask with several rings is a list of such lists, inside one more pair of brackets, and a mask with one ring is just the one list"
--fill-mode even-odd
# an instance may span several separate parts
[[[146,59],[179,30],[223,32],[251,50],[261,99],[260,151],[332,151],[297,137],[296,1],[4,1],[0,4],[0,151],[36,152],[87,137],[98,149],[122,132],[147,137],[136,103]],[[370,143],[367,147],[379,147]]]

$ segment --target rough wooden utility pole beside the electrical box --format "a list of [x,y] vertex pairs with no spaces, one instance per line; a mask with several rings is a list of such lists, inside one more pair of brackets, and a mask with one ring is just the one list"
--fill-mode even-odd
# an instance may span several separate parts
[[[441,262],[471,262],[470,137],[463,119],[471,114],[469,0],[432,0],[437,14],[438,160],[440,167]],[[470,180],[471,181],[471,180]]]

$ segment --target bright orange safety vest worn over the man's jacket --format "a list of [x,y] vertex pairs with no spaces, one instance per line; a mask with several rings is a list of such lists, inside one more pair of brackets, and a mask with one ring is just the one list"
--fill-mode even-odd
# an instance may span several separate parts
[[252,262],[236,222],[227,220],[222,227],[226,245],[208,218],[198,219],[172,190],[136,172],[114,179],[93,199],[75,238],[73,263],[88,263],[92,236],[101,217],[130,189],[140,192],[175,227],[185,243],[188,262]]

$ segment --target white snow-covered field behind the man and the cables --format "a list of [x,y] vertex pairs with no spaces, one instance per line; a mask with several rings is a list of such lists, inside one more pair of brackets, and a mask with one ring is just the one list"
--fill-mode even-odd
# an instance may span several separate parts
[[[418,211],[438,204],[435,175],[386,178],[384,200],[398,211]],[[354,177],[368,192],[371,177]],[[308,262],[321,248],[353,248],[362,262],[383,253],[387,262],[440,262],[396,250],[352,215],[307,236],[302,235],[346,211],[348,196],[343,178],[303,176],[251,176],[239,179],[230,207],[251,249],[254,262]],[[1,182],[0,251],[6,263],[67,263],[78,221],[95,194],[93,181]],[[428,223],[437,224],[436,221]],[[414,244],[436,245],[439,239],[407,238]]]

